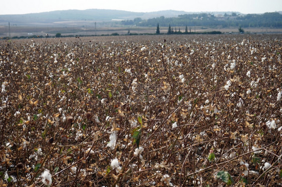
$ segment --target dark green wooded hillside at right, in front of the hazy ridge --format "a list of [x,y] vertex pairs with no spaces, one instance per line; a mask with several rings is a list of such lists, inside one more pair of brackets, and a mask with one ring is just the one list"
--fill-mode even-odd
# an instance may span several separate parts
[[122,21],[122,24],[135,24],[138,26],[155,26],[157,23],[163,26],[236,26],[239,27],[282,27],[282,14],[278,12],[263,14],[246,14],[215,16],[211,13],[183,14],[178,17],[156,17],[147,20],[135,18],[134,20]]

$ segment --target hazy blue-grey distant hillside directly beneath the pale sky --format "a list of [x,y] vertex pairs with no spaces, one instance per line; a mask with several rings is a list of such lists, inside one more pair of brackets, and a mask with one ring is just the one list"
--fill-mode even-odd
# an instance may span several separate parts
[[[154,17],[177,17],[181,14],[191,14],[197,12],[186,12],[177,10],[163,10],[154,12],[132,12],[124,10],[109,9],[86,9],[86,10],[56,10],[41,13],[28,13],[16,15],[0,15],[0,25],[7,25],[10,22],[13,25],[52,25],[53,23],[71,24],[72,21],[110,21],[112,19],[134,19],[136,17],[149,19]],[[200,12],[198,12],[200,13]],[[206,12],[208,13],[208,12]],[[215,14],[224,14],[229,12],[213,12]],[[239,12],[236,12],[240,14]],[[85,22],[83,22],[85,24]]]

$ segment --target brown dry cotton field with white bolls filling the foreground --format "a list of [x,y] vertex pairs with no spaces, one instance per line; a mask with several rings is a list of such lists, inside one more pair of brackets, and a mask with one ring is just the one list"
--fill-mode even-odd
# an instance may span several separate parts
[[0,40],[0,184],[282,185],[281,38]]

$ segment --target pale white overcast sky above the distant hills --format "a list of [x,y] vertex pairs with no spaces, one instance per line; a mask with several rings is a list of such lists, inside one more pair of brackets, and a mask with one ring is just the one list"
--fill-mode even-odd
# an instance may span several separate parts
[[5,2],[0,3],[0,14],[90,8],[135,12],[173,9],[264,13],[282,11],[282,0],[5,0]]

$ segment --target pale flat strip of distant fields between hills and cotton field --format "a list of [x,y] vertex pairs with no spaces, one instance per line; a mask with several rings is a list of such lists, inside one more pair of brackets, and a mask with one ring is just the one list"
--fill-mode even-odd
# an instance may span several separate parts
[[[184,32],[185,27],[173,27],[174,31],[175,28],[177,31],[179,29]],[[191,32],[205,32],[205,31],[221,31],[224,33],[229,32],[238,32],[238,28],[209,28],[209,27],[188,27],[188,31]],[[48,33],[50,36],[55,36],[56,33],[61,33],[64,35],[102,35],[102,34],[127,34],[128,30],[130,33],[140,34],[140,33],[156,33],[156,27],[139,27],[139,26],[132,26],[132,27],[121,27],[120,25],[104,25],[102,27],[89,27],[89,26],[60,26],[60,25],[51,25],[51,26],[11,26],[10,33],[11,37],[14,36],[31,36],[31,35],[45,35]],[[245,32],[250,33],[282,33],[282,28],[244,28]],[[167,33],[167,27],[160,27],[161,33]],[[7,37],[9,36],[9,27],[8,26],[0,26],[0,37]]]

